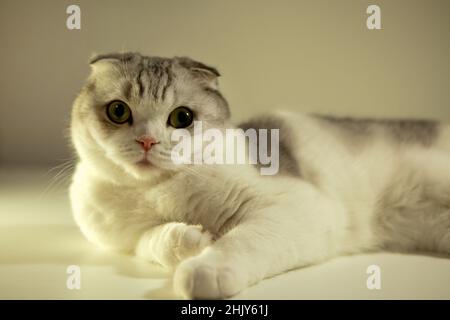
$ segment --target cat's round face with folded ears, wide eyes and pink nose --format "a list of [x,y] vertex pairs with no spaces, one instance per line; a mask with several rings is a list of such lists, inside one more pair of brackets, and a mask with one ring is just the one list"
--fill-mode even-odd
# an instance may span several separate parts
[[[189,58],[135,53],[97,56],[72,111],[72,140],[82,160],[144,179],[176,170],[174,130],[223,128],[229,109],[216,69]],[[115,168],[117,169],[117,168]]]

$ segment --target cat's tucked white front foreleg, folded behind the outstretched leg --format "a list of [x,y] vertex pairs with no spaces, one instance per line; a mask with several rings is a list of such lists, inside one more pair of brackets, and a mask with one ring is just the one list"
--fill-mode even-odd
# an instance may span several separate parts
[[201,226],[171,222],[144,232],[135,252],[137,256],[148,261],[173,268],[211,243],[212,235],[203,231]]

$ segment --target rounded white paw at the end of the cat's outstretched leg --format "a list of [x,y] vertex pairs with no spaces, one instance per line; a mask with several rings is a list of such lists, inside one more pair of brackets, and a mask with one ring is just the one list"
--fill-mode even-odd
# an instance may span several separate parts
[[203,256],[182,262],[174,274],[174,290],[186,299],[231,297],[247,285],[244,273]]

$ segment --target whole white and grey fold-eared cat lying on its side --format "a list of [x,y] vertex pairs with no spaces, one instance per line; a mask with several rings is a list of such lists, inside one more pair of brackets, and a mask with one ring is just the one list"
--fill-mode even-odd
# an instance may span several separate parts
[[[450,253],[450,126],[274,111],[233,125],[216,68],[99,55],[75,99],[70,186],[86,238],[173,270],[188,299],[233,296],[339,255]],[[176,130],[279,129],[280,169],[175,165]]]

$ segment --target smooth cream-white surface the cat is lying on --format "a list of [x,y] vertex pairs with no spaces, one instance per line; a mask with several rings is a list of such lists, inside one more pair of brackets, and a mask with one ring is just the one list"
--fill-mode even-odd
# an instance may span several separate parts
[[[54,173],[53,173],[54,174]],[[174,299],[170,274],[88,243],[74,224],[65,185],[44,191],[41,170],[0,170],[1,299]],[[381,290],[366,269],[381,268]],[[69,265],[81,289],[66,287]],[[341,257],[265,280],[235,299],[450,299],[450,259],[371,254]]]

